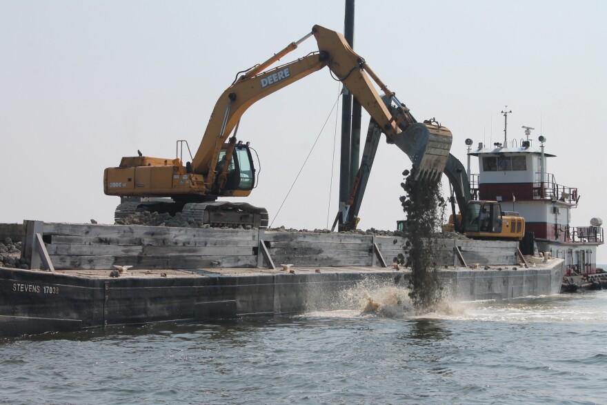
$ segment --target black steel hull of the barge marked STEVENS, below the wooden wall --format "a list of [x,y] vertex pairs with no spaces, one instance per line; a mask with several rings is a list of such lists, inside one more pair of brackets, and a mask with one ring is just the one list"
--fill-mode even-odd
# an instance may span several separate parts
[[[183,277],[179,271],[119,278],[67,273],[0,268],[0,335],[342,309],[342,290],[363,281],[405,288],[410,275],[377,267],[210,276],[200,270],[205,275],[184,271]],[[563,261],[552,259],[539,269],[461,268],[440,270],[439,277],[451,300],[512,299],[559,293],[563,273]]]

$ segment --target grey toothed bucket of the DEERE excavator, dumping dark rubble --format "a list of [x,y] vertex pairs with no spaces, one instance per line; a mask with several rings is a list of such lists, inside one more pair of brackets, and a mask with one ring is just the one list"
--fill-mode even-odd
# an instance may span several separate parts
[[416,122],[391,137],[415,167],[416,180],[438,181],[451,149],[451,131],[444,126]]

